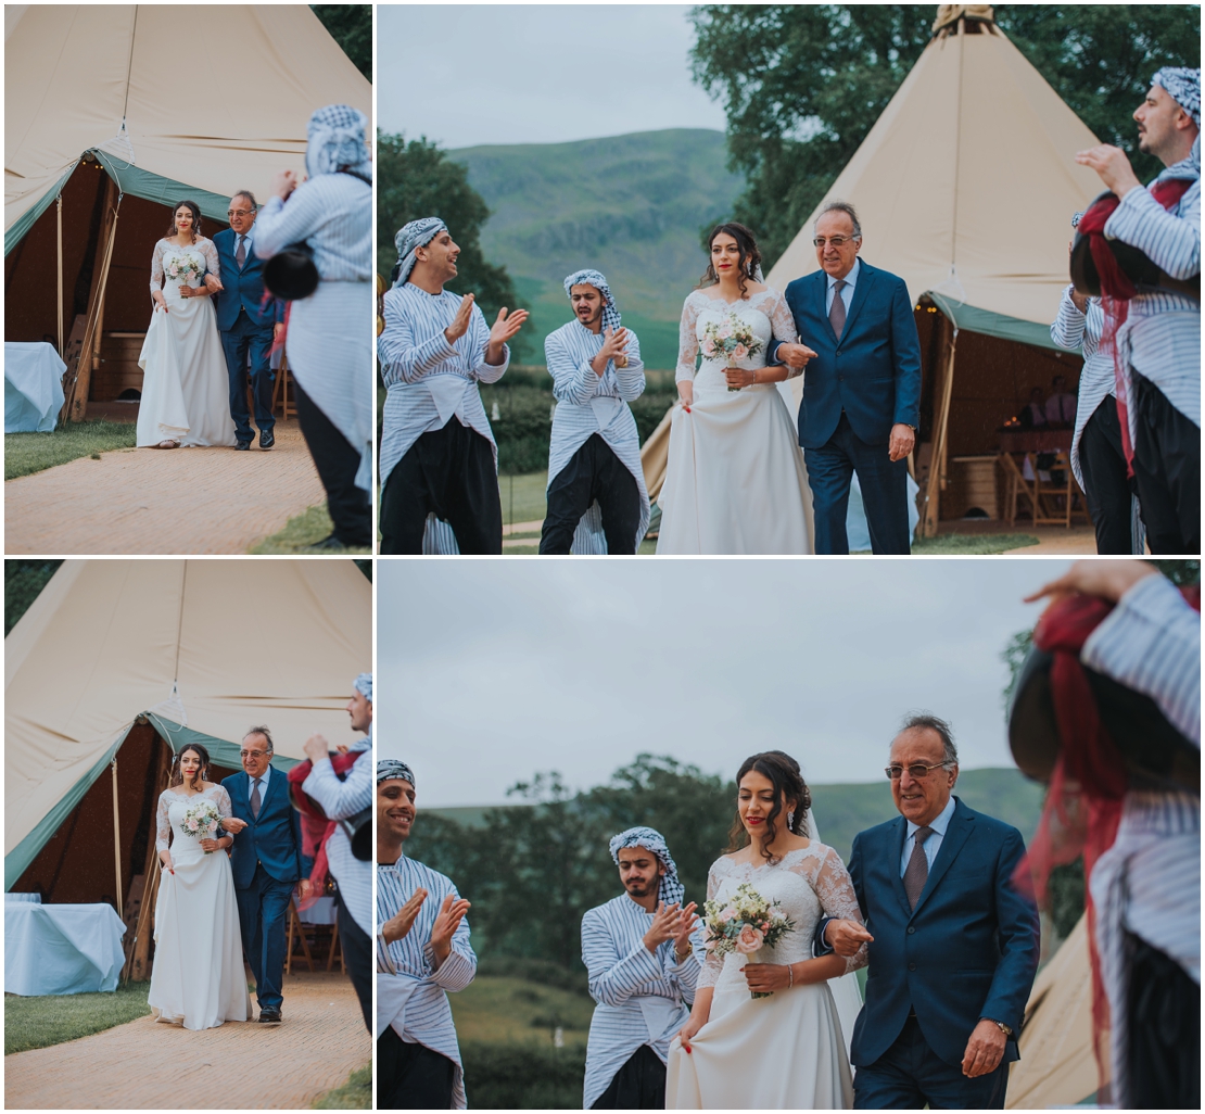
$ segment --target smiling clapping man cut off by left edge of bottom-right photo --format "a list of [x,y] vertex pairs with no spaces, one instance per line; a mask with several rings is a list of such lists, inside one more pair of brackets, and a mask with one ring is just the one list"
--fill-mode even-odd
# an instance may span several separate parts
[[448,991],[477,973],[469,902],[452,880],[406,858],[415,775],[377,763],[377,1108],[466,1108],[460,1045]]

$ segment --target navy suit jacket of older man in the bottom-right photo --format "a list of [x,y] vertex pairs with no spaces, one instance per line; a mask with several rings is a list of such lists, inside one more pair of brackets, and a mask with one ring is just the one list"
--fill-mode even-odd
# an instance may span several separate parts
[[[895,1043],[910,1009],[929,1048],[953,1067],[981,1018],[1021,1031],[1039,952],[1038,908],[1012,885],[1025,845],[1016,828],[954,801],[915,910],[900,876],[907,821],[897,816],[854,837],[850,876],[875,938],[853,1027],[858,1067]],[[1010,1039],[1005,1061],[1018,1059]]]

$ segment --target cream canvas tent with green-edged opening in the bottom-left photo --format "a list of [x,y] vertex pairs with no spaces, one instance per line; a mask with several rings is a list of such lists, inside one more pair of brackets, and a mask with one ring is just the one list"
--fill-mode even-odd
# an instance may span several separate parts
[[281,770],[313,732],[351,744],[371,663],[351,561],[64,562],[5,639],[5,890],[122,913],[170,752],[236,770],[253,723]]

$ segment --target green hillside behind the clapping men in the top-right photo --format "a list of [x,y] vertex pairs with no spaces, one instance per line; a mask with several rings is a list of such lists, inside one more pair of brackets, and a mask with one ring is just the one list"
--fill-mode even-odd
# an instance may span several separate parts
[[677,128],[574,143],[464,147],[448,157],[490,209],[486,258],[533,307],[536,351],[570,319],[565,275],[607,276],[649,368],[672,368],[682,300],[706,265],[701,231],[730,216],[743,182],[722,131]]

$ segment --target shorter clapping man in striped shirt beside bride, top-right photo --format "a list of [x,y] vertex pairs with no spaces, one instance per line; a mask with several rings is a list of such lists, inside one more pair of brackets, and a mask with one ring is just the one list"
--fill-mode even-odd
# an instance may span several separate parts
[[598,506],[609,553],[635,553],[648,529],[640,435],[628,403],[645,391],[636,334],[621,323],[606,278],[594,270],[565,278],[576,321],[543,342],[557,409],[548,446],[548,514],[541,553],[595,551],[575,545],[578,523]]

